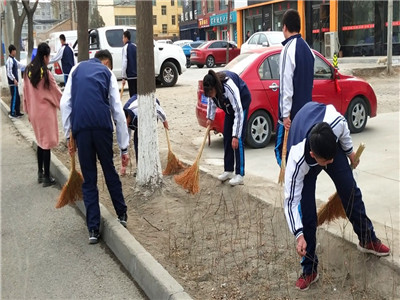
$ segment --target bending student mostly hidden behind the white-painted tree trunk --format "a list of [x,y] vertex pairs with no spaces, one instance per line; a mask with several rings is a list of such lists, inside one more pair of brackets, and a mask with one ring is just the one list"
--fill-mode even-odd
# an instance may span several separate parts
[[[138,161],[138,100],[137,95],[133,95],[124,105],[126,124],[128,125],[129,140],[133,130],[133,146],[135,148],[136,165]],[[160,105],[160,101],[156,99],[157,119],[161,120],[165,129],[168,129],[167,116]],[[123,173],[123,172],[122,172]]]

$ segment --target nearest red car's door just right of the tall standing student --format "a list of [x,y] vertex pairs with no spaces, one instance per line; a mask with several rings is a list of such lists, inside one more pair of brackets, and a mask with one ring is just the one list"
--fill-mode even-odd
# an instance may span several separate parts
[[316,54],[312,99],[324,104],[333,104],[337,111],[342,111],[342,92],[333,72],[334,68]]

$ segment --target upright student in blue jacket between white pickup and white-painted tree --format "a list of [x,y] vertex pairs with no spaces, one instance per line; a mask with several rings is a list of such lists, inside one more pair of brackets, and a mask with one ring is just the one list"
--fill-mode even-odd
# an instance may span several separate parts
[[131,42],[131,33],[125,31],[122,36],[122,83],[128,80],[129,97],[137,94],[136,45]]

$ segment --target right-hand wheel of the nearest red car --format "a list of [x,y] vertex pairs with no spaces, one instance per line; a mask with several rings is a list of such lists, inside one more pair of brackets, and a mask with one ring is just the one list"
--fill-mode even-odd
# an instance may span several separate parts
[[347,123],[351,133],[358,133],[364,130],[368,119],[368,106],[361,97],[354,98],[346,113]]

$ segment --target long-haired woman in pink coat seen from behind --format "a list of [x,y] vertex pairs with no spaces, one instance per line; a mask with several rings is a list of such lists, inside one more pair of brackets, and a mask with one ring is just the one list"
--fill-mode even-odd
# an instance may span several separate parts
[[57,109],[60,109],[62,96],[53,75],[47,69],[49,61],[50,47],[41,43],[24,77],[24,110],[38,144],[38,182],[43,183],[43,187],[55,183],[55,179],[50,176],[50,150],[58,145]]

